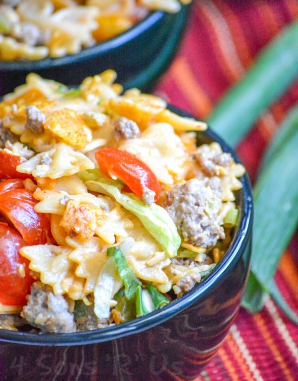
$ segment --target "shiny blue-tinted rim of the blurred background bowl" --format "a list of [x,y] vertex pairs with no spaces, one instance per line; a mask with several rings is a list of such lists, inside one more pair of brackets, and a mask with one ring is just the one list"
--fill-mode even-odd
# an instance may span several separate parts
[[166,16],[166,12],[162,10],[151,11],[142,20],[138,21],[131,28],[126,31],[99,42],[94,46],[82,49],[75,54],[68,54],[63,57],[45,57],[41,60],[18,60],[18,61],[0,61],[0,71],[14,72],[18,70],[34,71],[55,68],[63,65],[75,64],[84,61],[97,54],[103,54],[118,48],[121,45],[125,45],[131,40],[134,40],[139,35],[144,33],[158,21],[162,20]]

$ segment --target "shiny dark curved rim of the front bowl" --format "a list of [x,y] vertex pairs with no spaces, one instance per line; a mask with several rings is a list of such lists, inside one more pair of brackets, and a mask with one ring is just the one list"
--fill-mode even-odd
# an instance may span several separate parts
[[[177,107],[169,105],[168,108],[182,116],[190,116],[188,113],[178,109]],[[227,143],[225,143],[220,136],[213,132],[212,129],[208,127],[206,131],[199,132],[198,134],[203,134],[203,136],[210,139],[210,141],[217,141],[225,152],[231,153],[235,162],[241,163],[241,160],[236,152]],[[242,194],[242,218],[232,239],[230,247],[226,251],[224,258],[217,264],[211,274],[204,278],[202,282],[182,297],[177,298],[168,305],[165,305],[156,311],[150,312],[145,316],[135,318],[119,325],[113,325],[92,331],[37,334],[0,329],[0,344],[1,342],[10,342],[15,344],[30,344],[37,346],[73,346],[111,341],[148,330],[149,328],[171,319],[179,312],[199,301],[202,297],[204,297],[208,290],[212,289],[214,285],[221,282],[222,278],[233,266],[234,261],[242,255],[243,250],[245,250],[250,241],[252,230],[253,197],[251,183],[247,172],[241,176],[240,181],[243,186],[243,188],[238,191]]]

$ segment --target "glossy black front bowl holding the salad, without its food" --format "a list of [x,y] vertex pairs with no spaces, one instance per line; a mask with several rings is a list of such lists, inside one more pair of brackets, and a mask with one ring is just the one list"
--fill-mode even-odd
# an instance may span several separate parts
[[[175,112],[185,115],[177,109]],[[218,141],[210,129],[199,143]],[[247,174],[236,192],[240,222],[224,258],[197,287],[132,321],[71,334],[0,329],[1,381],[191,380],[216,354],[235,319],[250,264],[252,194]]]

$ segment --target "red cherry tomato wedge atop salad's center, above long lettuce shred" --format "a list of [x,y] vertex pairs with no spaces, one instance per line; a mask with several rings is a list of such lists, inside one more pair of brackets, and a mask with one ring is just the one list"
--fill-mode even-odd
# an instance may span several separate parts
[[95,158],[103,173],[122,180],[140,198],[143,190],[149,188],[155,192],[154,201],[158,200],[160,185],[157,177],[136,155],[114,148],[104,148],[95,152]]

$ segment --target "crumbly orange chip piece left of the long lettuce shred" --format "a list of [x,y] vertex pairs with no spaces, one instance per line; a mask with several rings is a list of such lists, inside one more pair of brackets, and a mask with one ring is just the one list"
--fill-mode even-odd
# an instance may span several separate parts
[[107,215],[92,203],[70,199],[60,222],[69,235],[77,235],[83,240],[90,239],[97,227],[107,221]]

